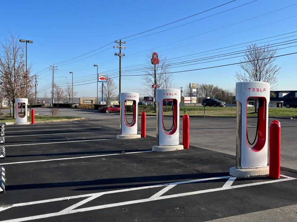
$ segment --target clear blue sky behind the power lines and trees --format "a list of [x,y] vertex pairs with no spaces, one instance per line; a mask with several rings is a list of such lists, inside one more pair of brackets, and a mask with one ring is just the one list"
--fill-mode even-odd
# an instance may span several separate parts
[[[127,49],[123,50],[126,54],[122,60],[123,69],[127,66],[144,64],[146,54],[150,53],[150,49],[152,48],[155,48],[157,53],[166,56],[167,59],[200,53],[196,55],[200,55],[200,57],[189,58],[194,55],[184,57],[184,60],[191,60],[243,50],[247,44],[226,48],[229,51],[225,52],[219,52],[223,49],[214,50],[221,47],[297,31],[297,5],[290,6],[297,3],[296,1],[252,1],[253,0],[237,0],[166,27],[123,39],[123,41],[127,41],[124,45]],[[112,46],[116,44],[112,43],[74,60],[69,59],[93,51],[114,40],[185,18],[226,2],[228,1],[181,2],[166,0],[158,1],[157,3],[155,1],[2,1],[0,3],[0,13],[2,17],[0,41],[4,41],[5,36],[9,35],[9,31],[12,33],[20,33],[21,39],[34,41],[33,44],[28,44],[28,62],[33,63],[32,74],[39,72],[39,86],[37,91],[40,97],[43,97],[43,91],[50,92],[50,89],[47,88],[49,88],[48,86],[51,84],[52,75],[47,67],[52,64],[58,66],[58,71],[55,72],[55,77],[57,77],[55,82],[57,82],[57,84],[63,86],[66,85],[67,82],[71,82],[71,74],[69,72],[72,71],[75,82],[74,85],[77,85],[75,86],[75,91],[78,91],[77,96],[93,97],[96,95],[96,83],[79,84],[95,81],[97,70],[96,67],[93,67],[93,64],[98,64],[99,73],[109,73],[109,70],[114,69],[114,72],[118,72],[118,57],[114,56],[114,53],[118,52],[118,49],[112,48]],[[246,5],[240,6],[243,4]],[[173,28],[169,31],[128,41],[133,38],[189,23],[236,6],[240,7],[178,28]],[[290,7],[278,10],[286,6]],[[273,10],[278,11],[250,19]],[[246,19],[249,20],[241,22]],[[233,23],[238,24],[231,25]],[[215,29],[217,30],[213,31]],[[192,36],[196,37],[179,41]],[[297,39],[297,32],[256,41],[256,43],[268,41],[270,44],[273,44],[292,39]],[[173,43],[176,41],[178,42]],[[259,45],[268,44],[268,42]],[[278,48],[295,45],[297,45],[297,43],[279,46]],[[207,53],[201,53],[209,50],[214,50],[211,51],[213,54],[205,55]],[[297,52],[297,47],[279,49],[278,55],[293,52]],[[276,60],[276,64],[282,67],[279,73],[277,90],[297,90],[296,58],[297,54],[279,57]],[[237,57],[184,67],[174,68],[173,66],[170,70],[177,72],[232,64],[239,62],[240,59],[242,58]],[[65,60],[69,61],[62,62]],[[171,63],[183,61],[173,60],[176,59],[169,61],[171,61]],[[141,66],[137,68],[141,68]],[[234,74],[239,70],[238,65],[232,65],[191,72],[179,72],[174,74],[174,84],[175,88],[185,87],[190,82],[194,82],[200,84],[214,84],[222,88],[232,89],[235,87],[236,83]],[[125,73],[123,73],[123,75],[125,75]],[[118,78],[114,78],[114,80],[118,84]],[[141,96],[146,96],[143,95],[140,90],[140,88],[142,88],[142,82],[140,76],[123,76],[122,92],[140,92]]]

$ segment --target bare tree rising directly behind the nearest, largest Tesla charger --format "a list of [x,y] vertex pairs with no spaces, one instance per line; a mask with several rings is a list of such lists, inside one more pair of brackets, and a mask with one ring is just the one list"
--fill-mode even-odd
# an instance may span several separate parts
[[[257,46],[251,44],[245,52],[243,61],[246,63],[239,64],[243,69],[235,73],[237,81],[262,81],[270,83],[270,89],[273,90],[278,81],[278,73],[281,67],[275,65],[277,49],[272,49],[268,46]],[[255,113],[257,112],[257,99],[255,100]]]

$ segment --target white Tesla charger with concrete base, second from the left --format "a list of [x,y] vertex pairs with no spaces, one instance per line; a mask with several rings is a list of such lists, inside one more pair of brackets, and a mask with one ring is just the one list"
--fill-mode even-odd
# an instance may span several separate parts
[[[139,93],[121,92],[120,93],[120,135],[117,139],[135,139],[140,138],[138,133],[138,102]],[[132,103],[132,118],[127,118],[127,103]],[[130,115],[129,115],[130,116]]]

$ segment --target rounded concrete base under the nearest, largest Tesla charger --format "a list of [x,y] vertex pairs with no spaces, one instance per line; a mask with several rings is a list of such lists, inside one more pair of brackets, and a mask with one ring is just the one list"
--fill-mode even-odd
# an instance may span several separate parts
[[250,176],[260,176],[269,173],[269,166],[250,168],[250,169],[237,169],[236,167],[231,167],[229,170],[230,176],[234,177],[250,177]]

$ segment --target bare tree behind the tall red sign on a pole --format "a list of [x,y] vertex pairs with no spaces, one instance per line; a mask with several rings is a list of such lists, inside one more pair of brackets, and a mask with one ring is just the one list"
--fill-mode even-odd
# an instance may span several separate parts
[[[152,88],[152,85],[155,84],[154,65],[151,64],[152,54],[153,51],[151,51],[151,53],[146,56],[145,61],[149,65],[145,66],[145,75],[141,76],[141,79],[143,80],[142,85],[144,86],[144,88],[141,88],[141,90],[149,97],[155,97],[155,88]],[[172,82],[174,75],[173,73],[170,73],[169,70],[170,63],[163,55],[159,55],[158,57],[160,62],[158,65],[156,65],[157,85],[159,85],[159,88],[174,88],[174,84]]]

